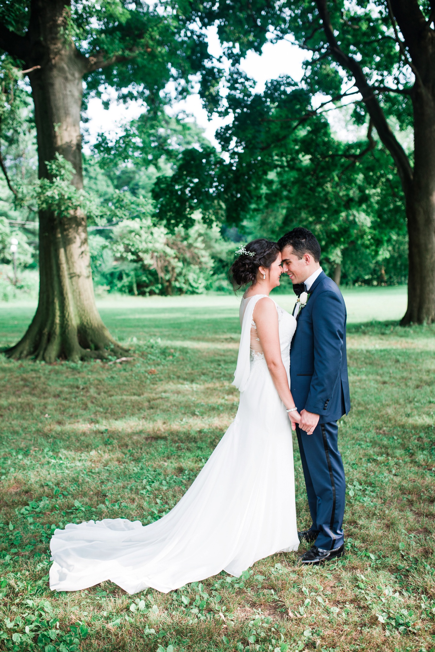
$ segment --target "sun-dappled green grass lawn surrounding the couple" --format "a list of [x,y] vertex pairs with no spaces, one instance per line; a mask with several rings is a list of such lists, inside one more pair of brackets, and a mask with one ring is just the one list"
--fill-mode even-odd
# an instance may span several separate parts
[[[167,595],[129,596],[109,582],[51,593],[48,542],[68,522],[149,523],[186,491],[236,413],[238,301],[100,300],[132,349],[124,364],[0,355],[0,649],[435,650],[435,327],[397,325],[404,288],[344,296],[346,557],[306,569],[296,554],[278,554],[241,578],[222,573]],[[0,346],[20,337],[34,309],[0,304]],[[296,441],[294,452],[307,527]]]

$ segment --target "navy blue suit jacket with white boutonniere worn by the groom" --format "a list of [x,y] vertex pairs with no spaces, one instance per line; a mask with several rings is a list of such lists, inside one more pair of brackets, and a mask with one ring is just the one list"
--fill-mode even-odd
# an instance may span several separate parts
[[337,421],[350,410],[346,306],[324,272],[300,310],[290,349],[290,389],[298,410],[320,415],[320,423]]

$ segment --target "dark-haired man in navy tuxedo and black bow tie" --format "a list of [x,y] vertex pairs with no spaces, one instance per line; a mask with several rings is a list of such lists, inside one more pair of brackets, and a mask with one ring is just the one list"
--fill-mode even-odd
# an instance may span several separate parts
[[320,267],[320,244],[311,231],[298,227],[278,244],[294,292],[298,297],[308,293],[290,349],[290,385],[301,415],[296,434],[313,520],[309,530],[299,533],[301,541],[313,543],[300,562],[318,564],[344,552],[346,484],[337,419],[350,410],[346,306],[341,291]]

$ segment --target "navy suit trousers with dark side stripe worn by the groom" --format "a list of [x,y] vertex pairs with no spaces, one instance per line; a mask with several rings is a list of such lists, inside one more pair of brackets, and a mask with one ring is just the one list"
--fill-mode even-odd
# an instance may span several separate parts
[[296,425],[312,530],[318,531],[315,545],[324,550],[344,542],[343,516],[346,482],[337,445],[337,421],[318,423],[307,435]]

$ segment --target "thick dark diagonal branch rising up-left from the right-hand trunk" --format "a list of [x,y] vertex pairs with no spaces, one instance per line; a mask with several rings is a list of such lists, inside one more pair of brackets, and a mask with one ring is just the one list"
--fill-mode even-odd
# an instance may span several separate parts
[[378,132],[380,140],[382,143],[384,143],[391,156],[393,156],[397,166],[397,171],[399,172],[400,181],[402,182],[402,188],[405,195],[408,195],[410,192],[413,176],[412,167],[408,156],[406,156],[402,145],[400,145],[399,141],[397,138],[395,138],[393,132],[391,131],[391,128],[387,123],[384,111],[382,111],[376,95],[373,92],[369,82],[367,82],[363,69],[359,65],[358,61],[341,50],[341,47],[337,42],[337,38],[335,38],[333,26],[331,24],[331,18],[327,7],[327,0],[316,0],[316,5],[318,8],[319,16],[322,19],[326,39],[330,44],[331,55],[334,57],[335,61],[341,65],[341,67],[349,70],[349,72],[352,73],[355,80],[355,85],[363,97],[365,108],[371,117],[373,126]]

